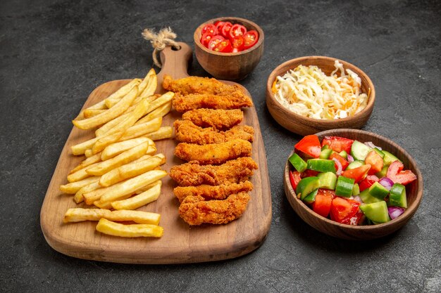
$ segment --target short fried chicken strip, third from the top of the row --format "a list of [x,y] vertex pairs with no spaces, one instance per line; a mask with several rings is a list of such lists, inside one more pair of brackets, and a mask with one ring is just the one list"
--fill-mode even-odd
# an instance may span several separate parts
[[214,129],[230,129],[240,124],[244,119],[244,112],[240,109],[197,109],[182,114],[182,119],[189,120],[197,126],[213,127]]

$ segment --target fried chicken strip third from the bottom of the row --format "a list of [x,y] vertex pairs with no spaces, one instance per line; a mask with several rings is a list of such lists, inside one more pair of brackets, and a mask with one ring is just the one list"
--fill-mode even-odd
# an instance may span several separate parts
[[249,176],[253,175],[253,171],[258,168],[251,157],[232,159],[218,166],[188,162],[172,167],[170,177],[180,186],[221,185],[247,181]]

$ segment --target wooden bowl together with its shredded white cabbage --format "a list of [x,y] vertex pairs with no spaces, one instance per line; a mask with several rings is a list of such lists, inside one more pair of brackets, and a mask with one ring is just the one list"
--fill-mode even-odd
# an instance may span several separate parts
[[368,75],[336,58],[295,58],[268,77],[268,110],[276,122],[296,134],[359,129],[371,116],[374,102],[375,88]]

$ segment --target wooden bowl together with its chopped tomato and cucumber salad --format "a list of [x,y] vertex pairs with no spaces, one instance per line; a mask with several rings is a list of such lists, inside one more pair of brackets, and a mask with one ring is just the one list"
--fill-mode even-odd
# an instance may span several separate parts
[[357,129],[304,136],[287,159],[284,186],[306,223],[348,240],[395,232],[423,196],[414,159],[393,141]]

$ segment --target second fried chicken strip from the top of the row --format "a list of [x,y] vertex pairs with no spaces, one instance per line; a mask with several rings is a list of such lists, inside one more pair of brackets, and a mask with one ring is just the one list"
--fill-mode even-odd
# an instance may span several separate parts
[[218,96],[210,93],[191,93],[187,96],[182,96],[176,93],[173,97],[173,108],[178,112],[187,112],[190,110],[209,108],[209,109],[240,109],[244,107],[251,107],[253,102],[249,96],[229,95]]

